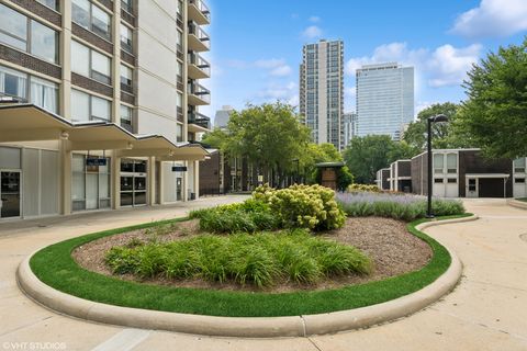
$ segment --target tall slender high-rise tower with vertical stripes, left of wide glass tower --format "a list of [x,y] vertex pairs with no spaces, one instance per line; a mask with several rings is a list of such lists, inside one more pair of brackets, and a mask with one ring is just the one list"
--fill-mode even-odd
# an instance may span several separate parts
[[304,45],[300,66],[300,113],[316,144],[344,146],[344,43]]

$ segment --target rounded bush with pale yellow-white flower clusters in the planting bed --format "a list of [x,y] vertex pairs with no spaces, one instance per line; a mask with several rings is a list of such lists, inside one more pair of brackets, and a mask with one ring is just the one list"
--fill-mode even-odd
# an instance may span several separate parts
[[295,184],[276,190],[266,184],[257,188],[253,196],[267,203],[284,227],[329,230],[340,228],[346,219],[335,192],[322,185]]

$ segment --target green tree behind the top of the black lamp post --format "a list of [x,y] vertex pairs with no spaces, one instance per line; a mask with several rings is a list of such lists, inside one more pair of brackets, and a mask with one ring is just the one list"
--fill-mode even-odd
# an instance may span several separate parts
[[422,152],[426,148],[428,117],[444,114],[448,117],[449,123],[433,124],[431,147],[438,149],[468,147],[467,140],[460,137],[453,127],[458,110],[459,105],[451,102],[436,103],[424,109],[417,114],[417,121],[412,122],[404,132],[403,140],[414,149],[415,155]]

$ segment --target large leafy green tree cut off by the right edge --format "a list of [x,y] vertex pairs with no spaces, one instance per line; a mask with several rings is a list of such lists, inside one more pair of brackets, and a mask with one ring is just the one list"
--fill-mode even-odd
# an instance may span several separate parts
[[489,157],[527,155],[527,37],[473,65],[457,127]]

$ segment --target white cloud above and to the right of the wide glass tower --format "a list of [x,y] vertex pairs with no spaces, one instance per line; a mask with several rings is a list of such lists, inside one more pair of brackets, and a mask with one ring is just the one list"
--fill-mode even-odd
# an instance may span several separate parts
[[349,59],[346,73],[354,77],[362,65],[399,63],[415,67],[417,86],[422,79],[434,88],[458,86],[467,77],[472,64],[478,61],[481,49],[479,44],[460,48],[446,44],[434,50],[411,49],[406,43],[384,44],[378,46],[371,56]]

